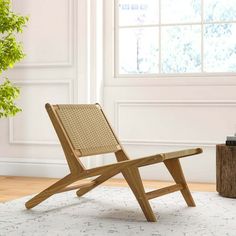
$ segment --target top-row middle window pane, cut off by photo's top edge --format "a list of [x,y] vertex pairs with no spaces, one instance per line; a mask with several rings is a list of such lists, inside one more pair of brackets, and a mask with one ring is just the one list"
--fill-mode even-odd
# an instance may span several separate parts
[[201,22],[201,0],[162,0],[161,23]]

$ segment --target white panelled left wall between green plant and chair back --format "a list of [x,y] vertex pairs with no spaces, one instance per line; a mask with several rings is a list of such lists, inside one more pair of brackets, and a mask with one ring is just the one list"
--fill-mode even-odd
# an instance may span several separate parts
[[64,155],[45,103],[88,102],[87,1],[13,1],[30,20],[20,39],[27,57],[7,76],[23,112],[0,120],[0,175],[62,176]]

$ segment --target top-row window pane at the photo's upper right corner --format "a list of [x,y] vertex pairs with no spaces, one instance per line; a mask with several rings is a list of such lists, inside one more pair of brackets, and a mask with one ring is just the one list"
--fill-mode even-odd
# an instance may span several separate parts
[[203,2],[205,21],[236,20],[236,0],[204,0]]

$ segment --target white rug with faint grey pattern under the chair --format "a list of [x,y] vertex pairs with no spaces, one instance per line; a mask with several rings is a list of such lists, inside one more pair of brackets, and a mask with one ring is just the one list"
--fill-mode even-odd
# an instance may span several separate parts
[[28,196],[0,204],[0,235],[236,235],[236,199],[203,192],[193,197],[194,208],[179,192],[151,200],[158,222],[148,223],[128,188],[98,187],[81,198],[61,193],[32,210],[24,207]]

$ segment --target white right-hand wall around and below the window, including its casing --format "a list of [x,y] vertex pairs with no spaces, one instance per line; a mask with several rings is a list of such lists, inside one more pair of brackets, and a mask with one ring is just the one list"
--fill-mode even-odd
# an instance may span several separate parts
[[[105,0],[104,107],[121,142],[131,157],[201,147],[203,154],[181,160],[186,178],[215,182],[215,145],[235,131],[236,76],[115,78],[112,2]],[[142,176],[171,179],[162,165]]]

